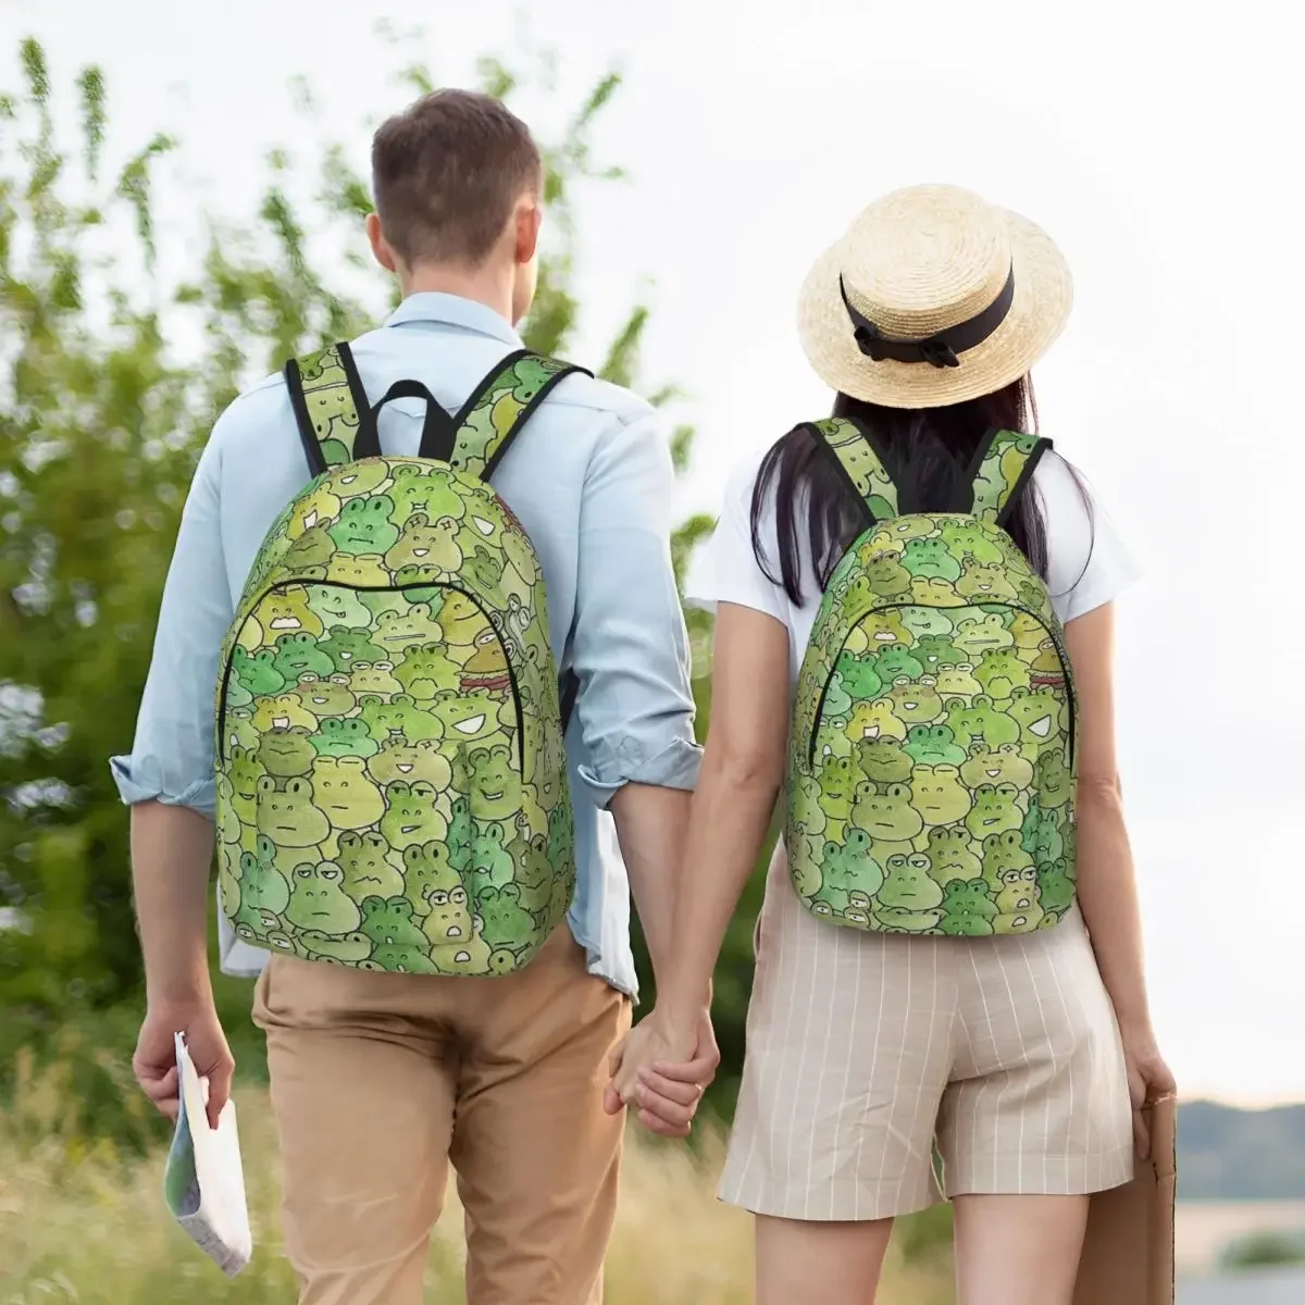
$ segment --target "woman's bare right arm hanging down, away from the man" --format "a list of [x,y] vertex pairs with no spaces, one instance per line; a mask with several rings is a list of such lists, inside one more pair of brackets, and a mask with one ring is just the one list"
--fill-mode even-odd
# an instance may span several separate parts
[[1151,1028],[1142,960],[1133,851],[1114,750],[1114,604],[1065,626],[1078,694],[1078,900],[1129,1062],[1138,1146],[1146,1130],[1138,1109],[1148,1095],[1173,1091]]

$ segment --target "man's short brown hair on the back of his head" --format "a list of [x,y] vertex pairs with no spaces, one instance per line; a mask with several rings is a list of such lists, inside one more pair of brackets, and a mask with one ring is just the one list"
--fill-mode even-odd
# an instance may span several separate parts
[[527,191],[538,194],[542,180],[530,128],[475,91],[425,95],[372,141],[381,231],[410,265],[483,262],[515,202]]

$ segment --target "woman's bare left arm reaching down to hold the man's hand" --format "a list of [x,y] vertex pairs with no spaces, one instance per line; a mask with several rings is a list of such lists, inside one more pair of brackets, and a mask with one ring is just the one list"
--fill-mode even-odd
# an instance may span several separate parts
[[748,607],[716,615],[711,723],[676,894],[669,980],[630,1035],[615,1086],[634,1099],[638,1071],[693,1053],[729,917],[761,852],[784,775],[788,632]]

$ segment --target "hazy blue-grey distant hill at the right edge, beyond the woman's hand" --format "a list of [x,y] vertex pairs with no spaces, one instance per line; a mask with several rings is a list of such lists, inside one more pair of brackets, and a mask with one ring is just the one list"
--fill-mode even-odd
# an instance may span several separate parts
[[1181,1201],[1305,1201],[1305,1104],[1178,1107]]

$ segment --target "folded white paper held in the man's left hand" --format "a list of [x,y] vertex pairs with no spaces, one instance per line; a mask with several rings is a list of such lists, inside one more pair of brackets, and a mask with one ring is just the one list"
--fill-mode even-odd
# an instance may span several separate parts
[[198,1248],[235,1278],[253,1254],[235,1101],[228,1100],[218,1126],[209,1128],[207,1079],[196,1071],[184,1034],[176,1035],[176,1069],[180,1109],[163,1174],[163,1199]]

